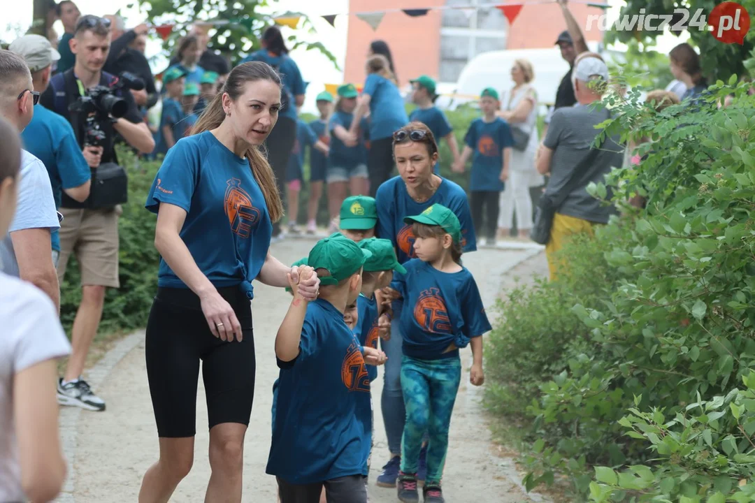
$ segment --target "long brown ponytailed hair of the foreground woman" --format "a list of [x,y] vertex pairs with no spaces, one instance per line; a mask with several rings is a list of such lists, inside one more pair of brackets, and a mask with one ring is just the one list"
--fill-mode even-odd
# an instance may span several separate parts
[[[223,94],[228,94],[232,101],[236,101],[244,93],[244,84],[260,80],[269,80],[279,86],[282,85],[280,75],[267,63],[250,61],[236,66],[228,75],[226,83],[223,84],[223,90],[215,95],[210,104],[205,107],[205,111],[199,116],[190,134],[203,133],[220,127],[226,118],[226,112],[223,111]],[[270,167],[267,156],[260,152],[259,147],[249,146],[245,157],[265,198],[270,220],[277,222],[283,216],[283,204],[273,168]]]

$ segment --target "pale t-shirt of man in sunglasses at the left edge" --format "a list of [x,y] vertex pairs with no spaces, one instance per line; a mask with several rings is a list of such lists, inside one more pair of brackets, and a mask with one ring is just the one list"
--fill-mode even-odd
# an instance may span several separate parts
[[[0,271],[18,277],[18,262],[13,250],[11,232],[26,228],[48,228],[50,232],[60,228],[52,195],[50,175],[38,158],[21,151],[21,172],[18,183],[18,201],[8,235],[0,238]],[[52,253],[52,248],[50,249]]]

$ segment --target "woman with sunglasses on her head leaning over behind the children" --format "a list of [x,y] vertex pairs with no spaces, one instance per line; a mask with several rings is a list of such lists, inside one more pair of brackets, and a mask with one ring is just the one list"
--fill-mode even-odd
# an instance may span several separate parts
[[[467,194],[456,183],[433,173],[433,166],[439,161],[438,145],[433,133],[421,122],[411,122],[400,128],[391,138],[392,155],[396,158],[399,176],[385,182],[377,189],[376,235],[390,239],[396,247],[396,256],[402,264],[416,258],[414,234],[405,217],[418,215],[433,204],[448,207],[461,222],[461,245],[464,252],[477,250],[470,206]],[[401,437],[404,431],[406,413],[401,390],[402,335],[396,323],[401,317],[402,301],[396,300],[395,290],[384,289],[384,295],[392,302],[393,323],[391,337],[382,341],[383,351],[388,357],[385,366],[385,385],[381,397],[381,409],[388,437],[390,460],[377,477],[377,485],[395,487],[401,462]],[[418,479],[424,480],[424,459],[426,451],[420,453]]]

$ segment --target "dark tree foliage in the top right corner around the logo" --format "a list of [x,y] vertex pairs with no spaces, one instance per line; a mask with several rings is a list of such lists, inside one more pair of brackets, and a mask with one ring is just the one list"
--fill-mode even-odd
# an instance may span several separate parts
[[[716,5],[722,3],[722,0],[627,0],[627,5],[621,8],[620,15],[640,14],[673,14],[675,8],[687,8],[690,17],[694,16],[695,11],[702,9],[705,16]],[[739,0],[747,12],[752,15],[755,12],[755,0]],[[675,18],[676,21],[676,18]],[[643,44],[652,44],[652,41],[660,35],[658,31],[615,31],[612,29],[607,36],[607,41],[618,40],[627,42],[632,39],[639,39]],[[750,29],[744,39],[744,44],[724,44],[713,38],[713,35],[707,29],[690,28],[689,36],[692,44],[700,50],[701,65],[703,74],[709,81],[721,79],[727,81],[731,75],[744,75],[750,68],[750,72],[755,69],[755,29]],[[747,61],[749,60],[749,61]],[[750,63],[751,62],[751,63]]]

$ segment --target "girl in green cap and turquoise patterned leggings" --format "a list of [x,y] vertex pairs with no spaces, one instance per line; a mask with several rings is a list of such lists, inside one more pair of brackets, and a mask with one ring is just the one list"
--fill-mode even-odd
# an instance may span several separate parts
[[[461,265],[461,224],[441,204],[408,216],[416,259],[404,263],[391,287],[403,298],[401,388],[406,407],[398,496],[418,501],[417,474],[425,432],[424,501],[443,501],[441,476],[448,428],[461,380],[459,349],[472,346],[470,382],[482,385],[482,334],[491,330],[477,284]],[[430,394],[429,390],[433,393]],[[433,428],[428,430],[428,425]]]

